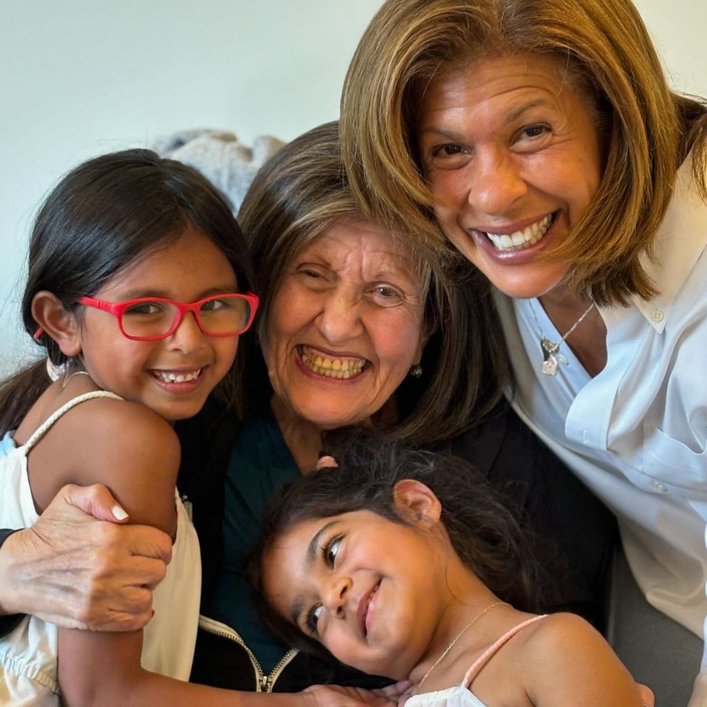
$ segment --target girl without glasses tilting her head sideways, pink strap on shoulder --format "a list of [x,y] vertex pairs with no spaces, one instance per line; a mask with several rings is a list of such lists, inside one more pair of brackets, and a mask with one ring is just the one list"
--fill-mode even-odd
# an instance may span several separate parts
[[286,487],[253,556],[288,645],[409,679],[405,707],[653,705],[587,621],[498,599],[515,585],[532,605],[542,574],[470,464],[361,428],[325,443],[338,468]]

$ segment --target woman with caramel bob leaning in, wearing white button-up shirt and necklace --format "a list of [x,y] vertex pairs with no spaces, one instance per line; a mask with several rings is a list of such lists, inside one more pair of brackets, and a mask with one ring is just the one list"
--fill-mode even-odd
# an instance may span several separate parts
[[707,612],[705,107],[670,91],[629,0],[388,0],[341,110],[366,213],[441,231],[493,285],[513,407],[617,513],[648,602],[692,632],[653,651],[689,684]]

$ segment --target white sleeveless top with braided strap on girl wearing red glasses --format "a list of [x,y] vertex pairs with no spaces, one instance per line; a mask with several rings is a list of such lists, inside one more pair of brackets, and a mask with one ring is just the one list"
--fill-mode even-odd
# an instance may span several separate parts
[[[0,440],[0,527],[22,528],[39,517],[27,475],[27,455],[52,425],[75,405],[98,397],[122,400],[105,390],[85,393],[59,408],[16,447],[10,433]],[[181,680],[189,679],[199,621],[201,557],[199,541],[175,489],[177,537],[167,575],[154,592],[155,615],[144,629],[142,666]],[[25,617],[0,640],[0,705],[59,706],[57,627]]]

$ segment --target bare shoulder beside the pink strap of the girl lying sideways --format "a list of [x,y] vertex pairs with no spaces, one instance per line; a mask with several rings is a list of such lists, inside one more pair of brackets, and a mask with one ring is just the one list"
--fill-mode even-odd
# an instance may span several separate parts
[[575,614],[551,614],[530,626],[522,672],[533,704],[640,707],[638,686],[603,636]]

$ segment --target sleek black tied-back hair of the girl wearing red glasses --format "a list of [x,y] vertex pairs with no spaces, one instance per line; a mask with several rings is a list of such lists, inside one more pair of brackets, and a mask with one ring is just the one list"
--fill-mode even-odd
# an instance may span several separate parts
[[[124,268],[194,226],[228,258],[242,291],[255,288],[250,253],[220,192],[191,167],[149,150],[126,150],[88,160],[66,174],[35,218],[30,237],[22,319],[32,336],[32,300],[47,290],[73,310]],[[56,342],[37,342],[52,363],[67,363]],[[45,361],[0,383],[0,430],[15,428],[49,384]],[[236,363],[218,390],[238,407]]]

